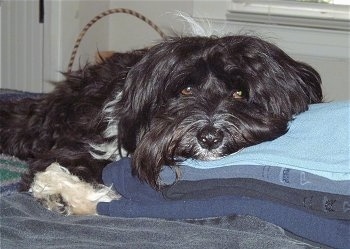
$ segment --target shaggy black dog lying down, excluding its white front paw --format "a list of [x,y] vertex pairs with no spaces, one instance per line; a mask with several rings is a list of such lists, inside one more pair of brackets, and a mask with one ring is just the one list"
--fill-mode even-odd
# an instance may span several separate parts
[[50,94],[0,104],[0,152],[30,163],[23,190],[54,162],[101,183],[121,155],[158,188],[163,165],[275,139],[322,101],[312,67],[252,36],[169,38],[66,78]]

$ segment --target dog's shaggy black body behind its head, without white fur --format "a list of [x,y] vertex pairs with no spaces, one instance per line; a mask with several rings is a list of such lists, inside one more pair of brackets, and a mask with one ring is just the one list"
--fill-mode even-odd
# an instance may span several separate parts
[[66,74],[65,82],[40,98],[0,100],[0,152],[30,165],[22,190],[28,190],[34,174],[53,162],[86,181],[101,182],[102,169],[110,160],[95,160],[89,143],[105,141],[103,106],[122,89],[130,67],[143,54],[142,50],[116,53],[102,64],[86,65]]

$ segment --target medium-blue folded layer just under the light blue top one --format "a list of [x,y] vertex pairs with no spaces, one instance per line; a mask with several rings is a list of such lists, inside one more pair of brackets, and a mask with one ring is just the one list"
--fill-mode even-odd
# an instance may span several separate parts
[[[315,190],[350,196],[350,180],[333,181],[309,172],[269,165],[232,165],[210,169],[190,166],[180,167],[181,181],[202,181],[210,179],[256,179],[289,188]],[[160,182],[171,185],[176,182],[176,174],[170,167],[160,173]]]

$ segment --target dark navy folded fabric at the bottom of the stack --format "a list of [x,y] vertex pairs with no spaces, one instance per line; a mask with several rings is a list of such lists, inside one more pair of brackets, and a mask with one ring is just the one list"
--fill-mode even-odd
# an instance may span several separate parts
[[349,220],[327,219],[263,199],[233,195],[202,200],[166,201],[160,192],[132,176],[128,159],[108,165],[103,171],[103,181],[107,185],[113,185],[123,198],[110,203],[99,203],[97,210],[102,215],[164,219],[250,215],[307,240],[331,247],[346,249],[350,244]]

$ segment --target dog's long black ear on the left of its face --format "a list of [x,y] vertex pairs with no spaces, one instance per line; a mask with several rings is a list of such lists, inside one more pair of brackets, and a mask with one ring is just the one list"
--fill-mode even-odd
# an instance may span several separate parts
[[[170,53],[170,43],[148,50],[126,77],[119,101],[119,144],[132,153],[136,142],[149,129],[152,115],[167,101],[167,83],[174,77],[174,65],[181,59]],[[137,137],[138,136],[138,137]]]

